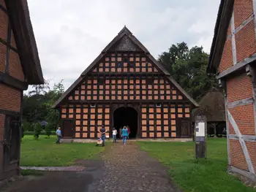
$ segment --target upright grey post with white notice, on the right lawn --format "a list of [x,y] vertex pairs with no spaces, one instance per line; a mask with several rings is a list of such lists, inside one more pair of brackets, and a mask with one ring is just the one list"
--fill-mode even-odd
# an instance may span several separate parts
[[206,158],[206,116],[195,117],[195,158]]

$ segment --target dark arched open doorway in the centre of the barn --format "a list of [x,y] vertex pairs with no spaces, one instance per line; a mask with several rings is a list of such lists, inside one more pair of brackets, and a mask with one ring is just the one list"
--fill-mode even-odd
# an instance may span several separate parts
[[113,114],[114,127],[118,131],[120,138],[120,128],[129,126],[129,138],[135,138],[138,134],[138,112],[132,107],[119,107]]

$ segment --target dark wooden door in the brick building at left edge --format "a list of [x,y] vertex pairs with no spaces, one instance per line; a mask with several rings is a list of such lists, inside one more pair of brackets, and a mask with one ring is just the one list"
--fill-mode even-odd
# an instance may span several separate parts
[[4,172],[17,169],[20,157],[20,117],[6,116],[3,147]]

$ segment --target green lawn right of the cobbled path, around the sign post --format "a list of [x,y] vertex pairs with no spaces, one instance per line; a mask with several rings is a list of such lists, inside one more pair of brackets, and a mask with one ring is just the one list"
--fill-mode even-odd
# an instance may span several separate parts
[[186,192],[255,192],[227,174],[226,139],[208,139],[207,159],[195,159],[194,142],[138,142],[170,167],[170,176]]

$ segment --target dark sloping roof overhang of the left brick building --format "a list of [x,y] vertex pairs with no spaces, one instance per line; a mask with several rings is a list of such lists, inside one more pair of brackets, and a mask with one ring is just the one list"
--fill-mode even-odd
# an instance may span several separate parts
[[44,83],[37,43],[29,18],[27,1],[7,1],[5,4],[10,17],[13,34],[20,55],[20,63],[29,85]]

